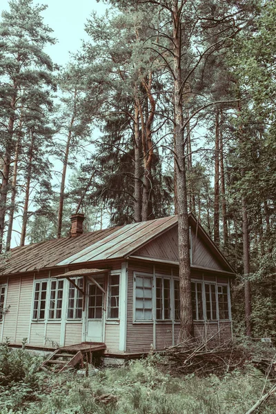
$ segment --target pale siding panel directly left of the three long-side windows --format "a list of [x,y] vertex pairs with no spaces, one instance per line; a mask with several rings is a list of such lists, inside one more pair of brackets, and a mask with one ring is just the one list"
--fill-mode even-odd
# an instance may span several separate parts
[[[12,279],[10,280],[12,283]],[[21,278],[19,311],[17,316],[17,330],[15,342],[21,343],[23,338],[29,337],[30,317],[32,310],[32,283],[33,276]]]

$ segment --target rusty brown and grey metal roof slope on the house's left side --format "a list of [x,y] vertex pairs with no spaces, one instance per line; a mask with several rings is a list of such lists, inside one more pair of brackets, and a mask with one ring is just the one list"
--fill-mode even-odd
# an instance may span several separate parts
[[177,216],[164,217],[13,248],[1,275],[127,257],[175,224]]

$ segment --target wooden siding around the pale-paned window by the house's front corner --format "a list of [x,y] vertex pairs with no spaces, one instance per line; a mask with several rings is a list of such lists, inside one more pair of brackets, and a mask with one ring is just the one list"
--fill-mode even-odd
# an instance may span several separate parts
[[150,264],[133,263],[128,266],[128,306],[126,327],[126,352],[149,352],[153,344],[153,323],[133,324],[133,271],[153,275]]

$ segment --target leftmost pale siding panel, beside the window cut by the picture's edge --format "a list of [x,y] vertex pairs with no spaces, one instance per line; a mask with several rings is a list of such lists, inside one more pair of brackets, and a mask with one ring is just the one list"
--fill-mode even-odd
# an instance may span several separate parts
[[[8,337],[10,342],[15,342],[16,337],[20,285],[21,277],[10,278],[8,282],[6,307],[10,306],[10,309],[4,319],[3,340]],[[30,319],[28,319],[28,324],[29,322]]]

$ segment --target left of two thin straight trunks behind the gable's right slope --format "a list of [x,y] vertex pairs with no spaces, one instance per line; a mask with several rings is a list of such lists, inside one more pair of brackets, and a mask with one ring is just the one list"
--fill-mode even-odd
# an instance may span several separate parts
[[219,110],[215,117],[214,242],[219,244]]

